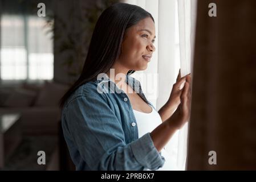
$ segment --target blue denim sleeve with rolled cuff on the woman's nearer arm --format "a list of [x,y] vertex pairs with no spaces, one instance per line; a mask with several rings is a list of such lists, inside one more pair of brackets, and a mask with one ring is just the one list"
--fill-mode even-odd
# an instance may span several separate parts
[[64,137],[91,170],[155,170],[164,165],[149,133],[125,143],[122,123],[103,96],[79,96],[64,109]]

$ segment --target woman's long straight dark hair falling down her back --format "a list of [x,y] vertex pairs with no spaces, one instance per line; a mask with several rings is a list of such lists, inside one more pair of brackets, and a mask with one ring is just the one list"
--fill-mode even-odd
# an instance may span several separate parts
[[[106,73],[115,63],[121,51],[124,33],[127,28],[137,24],[141,19],[153,16],[136,5],[115,3],[100,15],[92,34],[83,71],[78,80],[60,99],[62,109],[71,94],[86,82],[95,80],[99,73]],[[135,71],[130,70],[127,74]]]

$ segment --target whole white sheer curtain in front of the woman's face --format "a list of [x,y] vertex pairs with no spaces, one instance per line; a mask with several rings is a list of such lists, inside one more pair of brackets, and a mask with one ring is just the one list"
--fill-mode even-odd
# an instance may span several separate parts
[[[190,73],[196,0],[126,0],[123,2],[143,7],[155,19],[156,52],[153,53],[147,70],[143,71],[143,74],[135,72],[133,76],[141,81],[149,101],[160,109],[170,96],[178,69],[181,68],[181,76]],[[147,75],[147,79],[142,79],[142,75],[144,78]],[[149,75],[154,79],[148,79]],[[185,125],[173,135],[165,147],[174,164],[170,170],[185,169],[187,133],[188,126]]]

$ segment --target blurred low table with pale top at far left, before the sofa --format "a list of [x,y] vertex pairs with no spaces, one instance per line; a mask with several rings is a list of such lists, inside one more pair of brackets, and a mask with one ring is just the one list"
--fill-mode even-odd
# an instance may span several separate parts
[[0,114],[0,169],[21,142],[19,113]]

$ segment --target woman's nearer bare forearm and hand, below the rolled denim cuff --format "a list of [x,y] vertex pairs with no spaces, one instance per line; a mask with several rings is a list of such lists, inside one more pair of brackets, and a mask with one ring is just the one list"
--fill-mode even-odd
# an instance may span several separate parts
[[190,82],[191,77],[189,75],[186,77],[184,89],[181,93],[180,105],[170,118],[161,123],[161,125],[151,132],[151,138],[158,151],[161,151],[176,130],[181,129],[181,127],[189,120],[191,102]]

